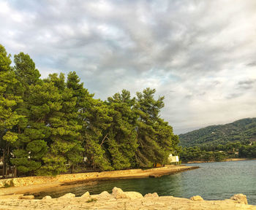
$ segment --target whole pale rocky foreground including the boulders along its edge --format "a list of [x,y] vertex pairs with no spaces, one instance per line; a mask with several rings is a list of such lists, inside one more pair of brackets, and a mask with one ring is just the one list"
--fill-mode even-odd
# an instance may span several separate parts
[[45,196],[42,200],[34,199],[33,195],[3,195],[0,196],[0,209],[255,209],[248,205],[246,195],[234,195],[225,201],[204,201],[199,195],[187,198],[161,196],[148,193],[144,197],[137,192],[123,192],[114,187],[112,194],[104,191],[99,195],[84,193],[75,197],[67,193],[60,198]]

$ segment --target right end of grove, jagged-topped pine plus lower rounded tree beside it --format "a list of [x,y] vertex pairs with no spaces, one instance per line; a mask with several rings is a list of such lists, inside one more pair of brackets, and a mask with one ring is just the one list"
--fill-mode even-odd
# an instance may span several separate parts
[[164,107],[164,97],[154,99],[156,90],[146,88],[137,93],[135,104],[138,114],[138,149],[135,160],[138,167],[152,167],[157,163],[167,163],[167,158],[178,144],[178,136],[173,135],[173,128],[159,117]]

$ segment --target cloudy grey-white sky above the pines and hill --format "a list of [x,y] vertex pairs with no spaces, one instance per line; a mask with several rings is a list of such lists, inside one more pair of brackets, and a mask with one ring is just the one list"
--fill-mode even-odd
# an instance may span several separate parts
[[[95,98],[155,88],[176,134],[256,117],[256,1],[5,1],[0,44]],[[13,58],[13,57],[12,57]]]

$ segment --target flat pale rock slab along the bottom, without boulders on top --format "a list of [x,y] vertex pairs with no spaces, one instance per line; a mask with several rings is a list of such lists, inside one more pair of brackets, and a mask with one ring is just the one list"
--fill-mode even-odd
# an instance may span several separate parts
[[[123,192],[127,193],[127,192]],[[107,193],[103,193],[103,195]],[[129,192],[128,192],[129,194]],[[14,195],[1,196],[0,209],[198,209],[198,210],[256,210],[256,206],[237,203],[237,201],[228,199],[227,201],[189,201],[187,198],[175,198],[173,196],[160,196],[159,198],[140,198],[140,199],[116,199],[110,195],[110,199],[99,200],[98,195],[91,195],[88,198],[67,198],[42,200],[20,200]],[[2,198],[6,197],[6,198]],[[241,196],[234,196],[234,198]],[[88,201],[88,202],[87,202]]]

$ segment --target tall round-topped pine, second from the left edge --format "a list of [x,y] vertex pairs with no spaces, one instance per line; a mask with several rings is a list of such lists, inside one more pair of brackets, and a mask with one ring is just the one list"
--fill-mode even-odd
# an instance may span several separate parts
[[[39,71],[35,68],[34,61],[29,55],[20,52],[14,56],[15,75],[18,80],[16,94],[23,98],[23,103],[18,104],[17,112],[23,117],[16,126],[18,141],[15,144],[12,164],[18,171],[34,173],[41,166],[41,159],[47,151],[47,144],[44,141],[44,125],[33,120],[29,97],[31,85],[42,83],[39,79]],[[16,175],[17,171],[15,171]]]

